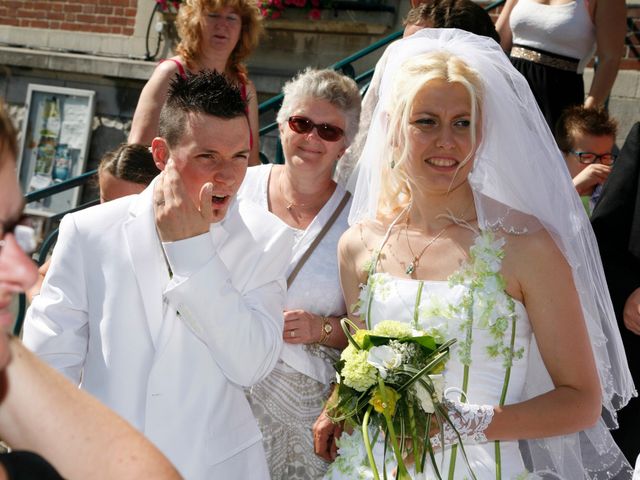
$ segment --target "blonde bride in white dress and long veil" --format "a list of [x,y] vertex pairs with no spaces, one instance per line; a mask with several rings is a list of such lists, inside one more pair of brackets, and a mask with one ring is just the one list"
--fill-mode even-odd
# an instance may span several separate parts
[[[352,318],[457,338],[445,398],[468,462],[445,427],[443,477],[631,478],[607,428],[635,392],[598,250],[526,81],[458,30],[392,48],[339,245]],[[359,435],[327,478],[366,478]]]

